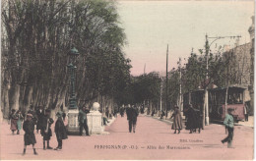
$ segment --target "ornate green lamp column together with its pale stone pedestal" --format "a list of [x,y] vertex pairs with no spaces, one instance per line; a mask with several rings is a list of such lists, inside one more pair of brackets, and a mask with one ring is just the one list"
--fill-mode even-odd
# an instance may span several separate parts
[[76,69],[75,66],[76,58],[79,56],[78,50],[73,47],[68,52],[70,63],[67,66],[70,75],[70,88],[69,88],[69,111],[68,111],[68,133],[69,134],[78,134],[79,133],[79,123],[78,123],[78,105],[77,105],[77,96],[76,96]]

